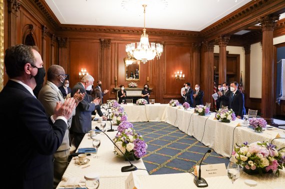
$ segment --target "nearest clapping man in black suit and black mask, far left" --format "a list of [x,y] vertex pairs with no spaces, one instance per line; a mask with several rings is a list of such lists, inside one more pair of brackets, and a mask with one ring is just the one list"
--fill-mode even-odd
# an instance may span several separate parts
[[9,125],[1,132],[12,132],[13,137],[5,139],[2,150],[15,150],[17,155],[9,156],[12,163],[2,179],[16,189],[52,189],[52,154],[62,143],[74,99],[57,102],[48,119],[32,92],[44,71],[40,54],[19,44],[5,51],[4,63],[10,79],[0,92],[0,119],[9,120]]

